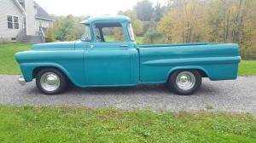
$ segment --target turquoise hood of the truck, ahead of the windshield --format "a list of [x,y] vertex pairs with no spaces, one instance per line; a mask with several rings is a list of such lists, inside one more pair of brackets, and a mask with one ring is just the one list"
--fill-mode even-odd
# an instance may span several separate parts
[[40,43],[32,46],[32,50],[72,50],[76,42]]

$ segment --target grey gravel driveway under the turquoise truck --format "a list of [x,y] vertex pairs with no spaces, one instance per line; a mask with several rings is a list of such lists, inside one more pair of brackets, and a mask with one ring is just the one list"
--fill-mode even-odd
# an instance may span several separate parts
[[34,82],[21,86],[18,76],[0,75],[0,104],[32,106],[86,106],[153,111],[221,111],[256,113],[256,77],[212,82],[203,79],[201,89],[190,96],[169,92],[164,85],[135,88],[71,88],[64,94],[41,94]]

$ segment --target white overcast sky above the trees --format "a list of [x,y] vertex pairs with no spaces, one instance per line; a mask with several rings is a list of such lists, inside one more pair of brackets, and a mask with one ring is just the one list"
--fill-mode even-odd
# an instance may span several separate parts
[[[117,14],[119,10],[132,9],[141,0],[36,0],[49,14],[67,15],[102,15]],[[159,1],[165,5],[168,0],[150,0],[152,3]]]

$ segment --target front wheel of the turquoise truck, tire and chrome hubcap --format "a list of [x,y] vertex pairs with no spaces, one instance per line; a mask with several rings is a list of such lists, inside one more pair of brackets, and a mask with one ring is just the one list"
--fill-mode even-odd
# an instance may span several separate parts
[[36,83],[44,94],[60,94],[67,87],[67,78],[54,68],[45,68],[38,72]]

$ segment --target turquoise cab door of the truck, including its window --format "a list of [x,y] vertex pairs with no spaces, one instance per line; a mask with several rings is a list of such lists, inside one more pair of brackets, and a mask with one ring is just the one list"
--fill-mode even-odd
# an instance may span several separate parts
[[95,42],[84,53],[87,86],[130,85],[131,47],[125,42],[123,28],[118,23],[100,23],[93,29]]

